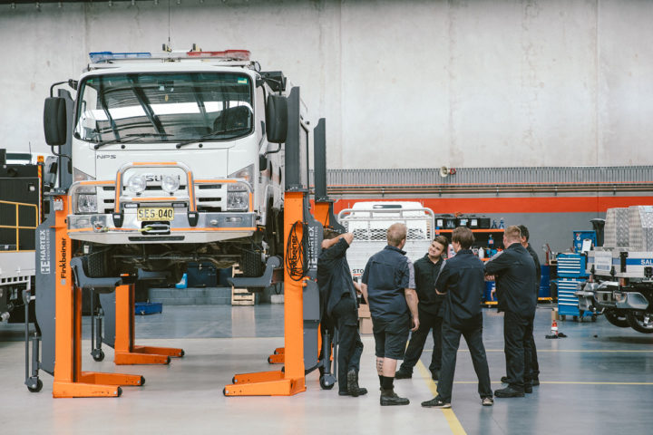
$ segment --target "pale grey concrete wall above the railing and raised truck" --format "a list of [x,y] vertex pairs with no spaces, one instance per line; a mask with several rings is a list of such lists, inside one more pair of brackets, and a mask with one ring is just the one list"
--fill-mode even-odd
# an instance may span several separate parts
[[[169,14],[170,11],[170,14]],[[653,164],[653,2],[166,0],[0,5],[0,147],[92,51],[246,48],[327,117],[328,165]]]

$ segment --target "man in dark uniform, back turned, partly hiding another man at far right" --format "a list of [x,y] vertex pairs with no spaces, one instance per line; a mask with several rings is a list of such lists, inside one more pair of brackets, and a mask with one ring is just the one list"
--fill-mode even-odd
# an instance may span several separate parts
[[494,275],[498,309],[503,315],[503,341],[508,386],[494,391],[496,397],[523,397],[532,392],[531,339],[537,297],[535,264],[521,246],[521,231],[507,227],[503,233],[503,250],[485,264],[485,274]]

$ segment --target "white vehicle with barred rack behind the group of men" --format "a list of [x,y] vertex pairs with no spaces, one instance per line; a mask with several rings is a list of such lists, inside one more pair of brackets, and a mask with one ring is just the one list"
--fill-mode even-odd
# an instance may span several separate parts
[[347,262],[356,279],[362,277],[370,256],[387,245],[386,231],[395,222],[408,227],[404,251],[414,263],[422,258],[435,237],[434,212],[416,201],[356,202],[338,213],[338,222],[354,234]]

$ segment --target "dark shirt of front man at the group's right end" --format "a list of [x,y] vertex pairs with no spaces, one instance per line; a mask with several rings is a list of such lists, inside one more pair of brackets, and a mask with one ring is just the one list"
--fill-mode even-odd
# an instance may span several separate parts
[[513,243],[500,256],[492,257],[485,263],[485,273],[496,276],[500,311],[510,311],[527,318],[535,315],[535,263],[521,243]]

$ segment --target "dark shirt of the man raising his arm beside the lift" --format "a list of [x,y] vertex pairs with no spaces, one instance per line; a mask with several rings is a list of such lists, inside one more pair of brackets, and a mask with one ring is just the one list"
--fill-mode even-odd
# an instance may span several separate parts
[[331,315],[343,295],[351,295],[352,300],[356,301],[356,288],[346,261],[348,248],[346,240],[340,238],[332,247],[322,249],[317,259],[317,286],[327,315]]

